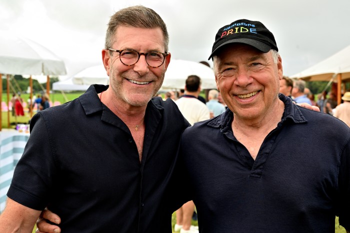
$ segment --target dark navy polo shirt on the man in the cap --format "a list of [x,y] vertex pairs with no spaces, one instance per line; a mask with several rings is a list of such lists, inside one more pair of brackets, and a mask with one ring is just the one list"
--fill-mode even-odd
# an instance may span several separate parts
[[180,160],[201,233],[350,230],[350,130],[279,95],[281,121],[255,160],[233,136],[232,112],[187,128]]

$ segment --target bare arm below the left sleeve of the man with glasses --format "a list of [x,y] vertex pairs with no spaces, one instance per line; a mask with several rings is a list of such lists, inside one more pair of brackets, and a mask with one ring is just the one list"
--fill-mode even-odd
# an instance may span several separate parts
[[31,233],[40,212],[7,198],[6,207],[0,215],[0,232]]

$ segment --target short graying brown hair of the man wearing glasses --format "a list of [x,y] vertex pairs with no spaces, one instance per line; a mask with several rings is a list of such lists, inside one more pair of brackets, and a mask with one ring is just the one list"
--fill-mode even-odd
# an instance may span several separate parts
[[110,48],[113,44],[113,36],[119,26],[143,29],[160,28],[164,36],[165,52],[168,51],[169,35],[167,33],[166,25],[160,16],[152,9],[143,6],[134,6],[121,9],[112,15],[105,36],[105,49]]

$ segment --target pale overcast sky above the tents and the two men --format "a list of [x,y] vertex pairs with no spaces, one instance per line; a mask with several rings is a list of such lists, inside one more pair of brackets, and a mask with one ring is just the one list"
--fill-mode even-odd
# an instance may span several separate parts
[[350,45],[350,0],[0,0],[0,30],[45,46],[72,75],[101,64],[109,17],[132,5],[164,20],[174,59],[207,61],[217,30],[238,19],[260,21],[273,33],[287,76]]

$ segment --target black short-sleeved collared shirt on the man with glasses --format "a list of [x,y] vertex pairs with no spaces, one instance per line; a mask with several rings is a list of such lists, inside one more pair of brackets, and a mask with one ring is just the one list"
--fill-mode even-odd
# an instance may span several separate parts
[[7,195],[48,206],[65,233],[171,232],[164,191],[188,122],[173,101],[152,99],[140,162],[127,126],[98,99],[106,88],[34,115]]

